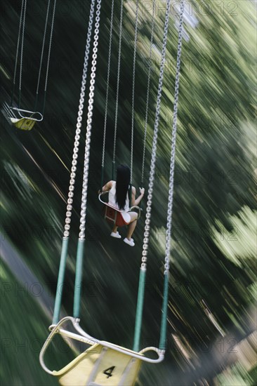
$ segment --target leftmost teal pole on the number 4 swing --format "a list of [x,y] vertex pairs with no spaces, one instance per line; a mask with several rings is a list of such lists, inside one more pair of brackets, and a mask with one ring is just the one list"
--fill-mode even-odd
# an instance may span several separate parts
[[69,239],[67,237],[62,238],[62,252],[60,255],[60,267],[59,267],[58,282],[57,282],[56,295],[55,295],[55,307],[53,310],[53,324],[58,324],[59,317],[60,317],[60,306],[62,304],[62,288],[63,288],[64,278],[65,278],[68,242],[69,242]]

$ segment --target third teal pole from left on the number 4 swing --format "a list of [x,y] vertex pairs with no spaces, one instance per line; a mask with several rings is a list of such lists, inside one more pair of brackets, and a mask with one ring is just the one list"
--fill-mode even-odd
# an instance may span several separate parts
[[134,342],[133,342],[133,351],[139,351],[140,343],[140,333],[142,326],[142,315],[143,315],[143,305],[144,305],[144,295],[145,295],[145,276],[146,269],[140,268],[140,277],[138,284],[138,304],[136,306],[136,324],[135,324],[135,333],[134,333]]

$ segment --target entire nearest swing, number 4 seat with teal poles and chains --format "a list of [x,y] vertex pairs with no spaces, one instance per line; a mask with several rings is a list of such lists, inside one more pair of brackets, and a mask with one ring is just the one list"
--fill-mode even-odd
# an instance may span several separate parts
[[[171,138],[171,163],[170,163],[170,179],[169,179],[169,204],[167,212],[167,225],[166,225],[166,248],[165,248],[165,262],[164,262],[164,291],[163,291],[163,302],[162,302],[162,321],[160,328],[159,347],[145,347],[140,350],[140,331],[143,317],[143,302],[145,292],[145,277],[147,270],[147,250],[150,236],[150,218],[152,210],[152,192],[154,185],[154,171],[155,161],[157,155],[157,138],[158,138],[158,126],[159,126],[159,111],[161,107],[162,99],[162,82],[164,76],[164,63],[166,53],[166,40],[168,34],[169,25],[169,9],[171,0],[166,1],[166,15],[164,22],[164,39],[162,46],[162,60],[160,65],[159,73],[159,86],[157,93],[157,106],[154,121],[154,135],[152,140],[152,155],[151,155],[151,166],[150,166],[150,177],[148,183],[147,193],[147,208],[146,208],[146,220],[145,220],[145,231],[143,239],[143,257],[140,267],[140,278],[138,284],[138,302],[136,307],[136,326],[133,340],[133,350],[129,350],[125,347],[115,345],[111,342],[98,340],[88,335],[81,326],[80,321],[80,299],[81,299],[81,279],[82,279],[82,266],[83,266],[83,253],[84,253],[84,242],[85,242],[85,230],[86,230],[86,200],[88,191],[88,166],[89,166],[89,155],[90,155],[90,143],[91,143],[91,124],[93,116],[93,97],[95,88],[95,69],[97,62],[98,53],[98,34],[99,34],[99,22],[100,22],[100,7],[101,0],[96,0],[96,15],[95,15],[95,29],[93,36],[93,59],[91,65],[91,80],[90,80],[90,93],[88,100],[88,114],[87,114],[87,126],[86,126],[86,147],[84,155],[84,176],[82,186],[82,197],[81,197],[81,218],[80,218],[80,232],[79,240],[77,244],[77,263],[76,263],[76,276],[74,285],[74,310],[73,317],[64,317],[60,319],[60,306],[62,301],[62,288],[65,277],[65,265],[67,260],[67,248],[70,237],[70,222],[72,215],[72,204],[73,204],[73,191],[74,183],[77,171],[77,153],[79,147],[79,139],[81,133],[81,121],[84,108],[84,95],[86,88],[86,74],[88,68],[88,57],[91,45],[91,32],[93,26],[93,15],[95,8],[95,0],[91,0],[91,10],[88,22],[88,33],[86,40],[86,51],[84,57],[84,69],[81,82],[81,94],[79,100],[79,112],[77,117],[77,130],[74,141],[73,159],[72,159],[72,171],[70,175],[70,187],[67,199],[67,213],[65,219],[65,232],[62,238],[62,252],[60,257],[60,269],[58,274],[58,284],[55,297],[55,307],[53,312],[53,324],[49,327],[51,333],[46,339],[44,346],[41,349],[39,360],[42,368],[51,374],[58,377],[61,385],[134,385],[136,376],[140,369],[142,361],[156,364],[164,359],[165,354],[165,343],[166,343],[166,319],[167,319],[167,307],[168,307],[168,288],[169,288],[169,255],[170,255],[170,240],[171,240],[171,218],[172,218],[172,207],[173,207],[173,178],[174,178],[174,166],[175,166],[175,147],[176,147],[176,121],[178,114],[178,86],[179,86],[179,74],[180,74],[180,55],[181,55],[181,44],[182,44],[182,25],[183,25],[183,12],[185,6],[185,0],[180,0],[180,23],[178,27],[178,55],[177,55],[177,67],[176,67],[176,80],[175,80],[175,98],[173,105],[173,129]],[[113,13],[112,0],[112,13]],[[121,0],[121,7],[123,0]],[[138,0],[137,12],[138,12]],[[155,1],[153,1],[155,4]],[[62,325],[66,322],[70,322],[76,333],[70,331],[67,328],[62,328]],[[60,334],[62,338],[72,338],[79,340],[90,345],[85,352],[82,352],[73,359],[70,364],[67,364],[64,368],[59,371],[51,371],[44,362],[44,354],[48,345],[52,342],[54,336]],[[157,359],[151,359],[145,356],[146,352],[156,352],[158,355]]]

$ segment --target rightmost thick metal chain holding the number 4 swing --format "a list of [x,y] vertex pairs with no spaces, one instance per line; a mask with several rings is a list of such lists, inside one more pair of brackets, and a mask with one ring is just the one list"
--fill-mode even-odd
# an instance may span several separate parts
[[178,27],[178,55],[177,55],[177,67],[176,67],[176,79],[175,79],[175,98],[173,106],[173,126],[172,126],[172,142],[171,142],[171,164],[170,164],[170,177],[169,177],[169,204],[167,213],[167,225],[166,225],[166,245],[165,245],[165,263],[164,274],[169,272],[169,255],[171,250],[171,220],[172,220],[172,208],[173,208],[173,187],[174,187],[174,168],[175,168],[175,152],[176,152],[176,132],[177,132],[177,117],[178,117],[178,90],[179,90],[179,76],[180,76],[180,58],[182,48],[182,27],[183,27],[183,13],[185,8],[185,0],[180,1],[180,20]]

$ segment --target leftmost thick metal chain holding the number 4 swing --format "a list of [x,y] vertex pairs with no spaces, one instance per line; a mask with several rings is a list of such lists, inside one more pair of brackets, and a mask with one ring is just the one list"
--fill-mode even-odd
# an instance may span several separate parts
[[94,9],[95,9],[95,0],[91,0],[91,8],[90,8],[90,15],[89,15],[89,22],[88,22],[88,32],[87,32],[87,37],[86,37],[86,49],[85,49],[85,55],[84,55],[84,68],[83,68],[82,81],[81,81],[81,92],[80,92],[80,98],[79,98],[79,112],[78,112],[78,117],[77,117],[77,130],[76,130],[76,134],[75,134],[75,138],[74,138],[74,147],[73,147],[73,155],[72,155],[72,171],[70,173],[70,187],[69,187],[69,193],[68,193],[68,199],[67,199],[65,232],[63,234],[63,236],[65,238],[70,236],[70,222],[71,222],[71,217],[72,217],[72,204],[73,204],[73,195],[74,195],[73,191],[74,191],[74,184],[75,184],[76,171],[77,171],[77,158],[78,158],[78,152],[79,152],[81,121],[82,121],[82,115],[83,115],[83,109],[84,109],[86,76],[87,76],[87,72],[88,72],[88,58],[89,58],[90,45],[91,45],[91,33],[92,33]]

